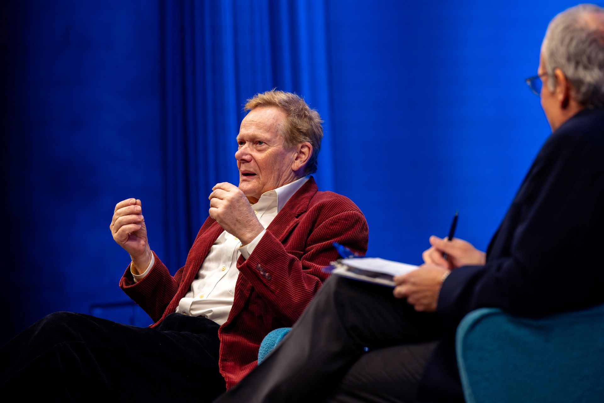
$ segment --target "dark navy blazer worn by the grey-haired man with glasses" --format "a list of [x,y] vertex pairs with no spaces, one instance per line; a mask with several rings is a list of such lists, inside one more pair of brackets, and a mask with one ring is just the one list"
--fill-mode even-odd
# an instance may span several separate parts
[[604,109],[585,109],[545,141],[493,236],[484,266],[455,269],[438,309],[449,334],[420,385],[421,401],[463,400],[455,327],[496,307],[528,317],[604,303]]

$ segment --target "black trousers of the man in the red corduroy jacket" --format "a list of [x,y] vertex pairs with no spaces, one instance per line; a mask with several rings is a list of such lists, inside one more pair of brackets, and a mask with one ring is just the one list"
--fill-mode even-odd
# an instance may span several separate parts
[[218,328],[207,318],[182,314],[150,329],[56,312],[0,349],[0,396],[211,402],[225,391]]

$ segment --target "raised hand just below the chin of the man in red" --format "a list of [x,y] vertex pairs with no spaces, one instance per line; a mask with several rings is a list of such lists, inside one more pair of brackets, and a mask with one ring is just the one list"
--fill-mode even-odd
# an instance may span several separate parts
[[228,182],[217,183],[210,193],[210,217],[226,232],[236,236],[243,245],[252,242],[263,230],[248,198],[241,189]]

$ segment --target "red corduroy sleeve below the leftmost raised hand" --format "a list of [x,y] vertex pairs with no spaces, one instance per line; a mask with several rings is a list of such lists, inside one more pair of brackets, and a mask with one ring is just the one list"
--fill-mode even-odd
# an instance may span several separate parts
[[120,279],[120,288],[156,322],[176,295],[184,268],[179,269],[173,277],[155,252],[152,253],[155,263],[147,276],[135,282],[128,265]]

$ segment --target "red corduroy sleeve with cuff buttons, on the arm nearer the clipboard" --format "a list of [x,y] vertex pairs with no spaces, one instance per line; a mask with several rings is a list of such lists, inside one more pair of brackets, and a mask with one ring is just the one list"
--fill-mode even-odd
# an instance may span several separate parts
[[277,318],[291,325],[327,278],[323,268],[338,259],[332,243],[341,243],[364,255],[368,234],[367,221],[360,211],[344,211],[315,227],[302,256],[294,256],[271,231],[266,231],[248,259],[237,268]]

